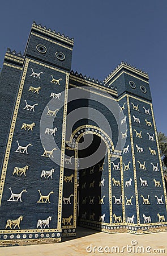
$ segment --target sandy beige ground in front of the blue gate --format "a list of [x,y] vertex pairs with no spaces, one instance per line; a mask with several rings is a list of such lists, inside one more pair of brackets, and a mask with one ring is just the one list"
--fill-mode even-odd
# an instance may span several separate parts
[[[137,244],[136,244],[137,243]],[[91,246],[92,244],[92,246]],[[97,247],[95,247],[97,246]],[[101,246],[101,247],[99,247]],[[108,247],[106,247],[108,246]],[[115,248],[118,246],[115,253]],[[124,251],[123,251],[124,246]],[[140,253],[140,250],[143,251]],[[143,247],[141,247],[143,246]],[[87,249],[88,247],[88,249]],[[94,247],[94,249],[93,249]],[[113,247],[113,248],[112,248]],[[138,251],[137,251],[138,249]],[[99,251],[100,252],[99,252]],[[110,250],[110,253],[108,251]],[[113,250],[113,251],[112,251]],[[129,250],[129,252],[127,251]],[[153,251],[155,250],[155,251]],[[163,251],[161,251],[163,250]],[[130,252],[131,251],[131,252]],[[103,253],[102,253],[103,252]],[[167,255],[167,232],[134,235],[128,233],[108,234],[95,230],[78,228],[77,238],[63,238],[62,243],[1,247],[5,256],[79,256],[79,255]]]

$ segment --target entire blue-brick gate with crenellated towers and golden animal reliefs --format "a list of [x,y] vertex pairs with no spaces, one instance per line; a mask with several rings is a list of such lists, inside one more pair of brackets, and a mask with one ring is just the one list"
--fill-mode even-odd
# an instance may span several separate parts
[[[71,71],[74,39],[33,22],[1,71],[1,245],[61,242],[77,225],[166,230],[148,74],[122,62],[104,81]],[[111,235],[112,236],[112,235]]]

